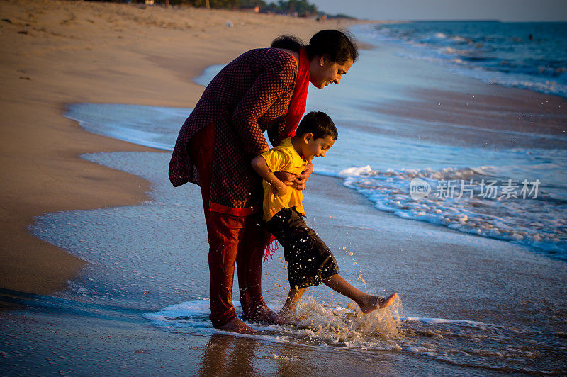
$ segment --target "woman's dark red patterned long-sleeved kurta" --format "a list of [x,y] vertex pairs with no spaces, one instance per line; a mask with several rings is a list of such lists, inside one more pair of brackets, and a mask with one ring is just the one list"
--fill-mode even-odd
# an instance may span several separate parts
[[287,52],[274,48],[250,50],[232,60],[210,81],[185,120],[169,162],[174,186],[199,184],[189,153],[189,141],[215,123],[211,164],[210,209],[248,215],[262,209],[262,179],[250,162],[283,130],[298,67]]

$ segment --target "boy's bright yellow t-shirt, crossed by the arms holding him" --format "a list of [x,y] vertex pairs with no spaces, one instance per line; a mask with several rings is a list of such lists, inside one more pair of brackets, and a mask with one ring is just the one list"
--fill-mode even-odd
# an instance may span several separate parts
[[[283,140],[280,145],[272,148],[268,152],[262,153],[270,171],[287,171],[291,174],[301,174],[305,170],[307,162],[296,152],[291,145],[291,138]],[[305,215],[303,210],[303,193],[288,186],[286,195],[274,196],[271,186],[266,181],[262,181],[264,186],[264,220],[268,221],[281,208],[295,207],[296,210]]]

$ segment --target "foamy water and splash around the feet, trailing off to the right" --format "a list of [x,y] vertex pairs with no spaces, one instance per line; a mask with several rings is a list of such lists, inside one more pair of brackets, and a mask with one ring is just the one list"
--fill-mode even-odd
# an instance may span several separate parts
[[[240,312],[240,303],[235,302]],[[384,310],[368,315],[354,303],[347,308],[320,305],[305,296],[298,305],[295,325],[258,325],[248,323],[256,334],[232,334],[281,344],[308,347],[341,347],[353,351],[405,351],[422,354],[451,364],[478,365],[486,368],[486,359],[495,364],[507,357],[529,359],[537,356],[531,347],[520,344],[501,349],[499,342],[512,342],[522,330],[474,320],[433,317],[403,317],[399,300]],[[194,300],[169,305],[144,317],[165,331],[181,334],[225,333],[212,327],[208,300]],[[447,340],[445,340],[447,339]],[[493,339],[499,341],[493,344]],[[518,340],[520,341],[520,339]],[[533,341],[539,344],[539,339]],[[490,368],[490,367],[489,367]]]

